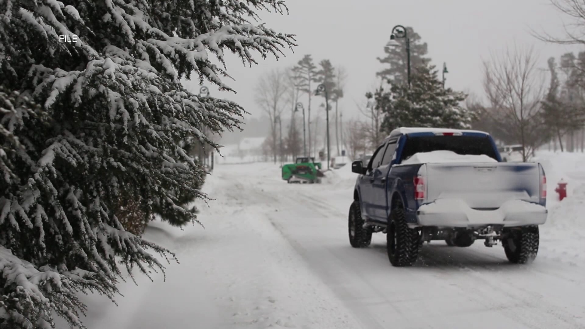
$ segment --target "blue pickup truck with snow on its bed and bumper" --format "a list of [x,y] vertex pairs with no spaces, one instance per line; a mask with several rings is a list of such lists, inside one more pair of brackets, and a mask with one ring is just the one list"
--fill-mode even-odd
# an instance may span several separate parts
[[349,210],[349,241],[387,237],[394,266],[417,261],[432,240],[466,247],[501,241],[512,263],[531,262],[546,222],[546,177],[539,163],[503,162],[486,132],[398,128],[358,173]]

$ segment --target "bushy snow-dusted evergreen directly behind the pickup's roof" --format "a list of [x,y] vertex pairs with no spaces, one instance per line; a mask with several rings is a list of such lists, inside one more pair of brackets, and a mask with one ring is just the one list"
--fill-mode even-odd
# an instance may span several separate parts
[[384,111],[382,131],[390,133],[400,126],[469,128],[473,113],[460,104],[463,92],[443,89],[438,72],[430,67],[418,67],[412,74],[412,88],[394,85],[374,93],[374,104]]

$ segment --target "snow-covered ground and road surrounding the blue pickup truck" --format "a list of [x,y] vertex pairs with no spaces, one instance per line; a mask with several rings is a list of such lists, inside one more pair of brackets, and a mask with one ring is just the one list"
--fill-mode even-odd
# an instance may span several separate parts
[[[195,226],[154,223],[146,237],[177,252],[167,282],[123,285],[119,306],[91,297],[86,324],[102,328],[585,328],[585,156],[542,152],[549,222],[531,265],[501,246],[425,245],[393,268],[383,234],[353,249],[346,217],[355,174],[287,184],[278,166],[218,165],[216,200]],[[569,198],[554,201],[556,182]]]

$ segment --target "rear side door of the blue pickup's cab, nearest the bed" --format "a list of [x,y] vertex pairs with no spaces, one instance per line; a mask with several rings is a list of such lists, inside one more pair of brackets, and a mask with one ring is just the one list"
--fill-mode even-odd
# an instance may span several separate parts
[[388,188],[387,186],[392,187],[394,181],[389,181],[390,178],[388,177],[388,173],[392,169],[392,159],[394,156],[394,152],[396,150],[398,138],[393,138],[388,140],[388,145],[386,146],[386,152],[384,152],[384,156],[380,162],[380,166],[378,166],[374,170],[374,183],[371,186],[372,195],[374,204],[371,206],[373,208],[373,214],[371,214],[371,219],[377,221],[386,222],[388,220],[388,207],[387,207],[387,200],[388,200]]

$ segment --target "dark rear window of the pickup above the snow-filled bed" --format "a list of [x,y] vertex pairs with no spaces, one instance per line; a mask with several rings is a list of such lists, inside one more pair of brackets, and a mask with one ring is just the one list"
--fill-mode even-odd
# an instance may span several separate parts
[[415,153],[448,150],[461,155],[487,155],[498,159],[488,136],[408,136],[401,160]]

